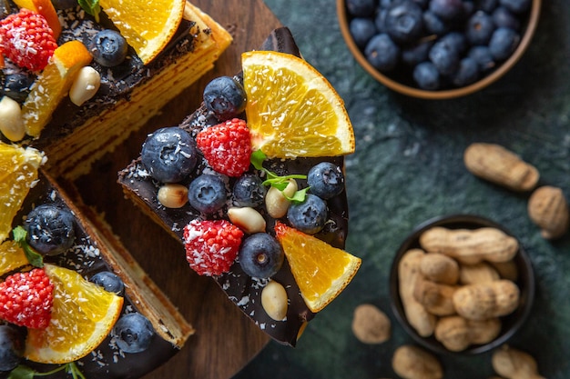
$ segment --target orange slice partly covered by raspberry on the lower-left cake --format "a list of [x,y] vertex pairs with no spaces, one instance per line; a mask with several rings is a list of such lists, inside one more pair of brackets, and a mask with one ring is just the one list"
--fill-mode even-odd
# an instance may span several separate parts
[[44,266],[54,284],[52,318],[46,329],[28,329],[24,356],[42,364],[66,364],[93,351],[110,333],[123,298],[76,271]]

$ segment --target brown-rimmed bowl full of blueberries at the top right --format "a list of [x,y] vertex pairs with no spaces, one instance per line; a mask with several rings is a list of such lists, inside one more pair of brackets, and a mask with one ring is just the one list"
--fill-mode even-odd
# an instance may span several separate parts
[[542,0],[337,0],[341,33],[376,80],[449,99],[503,76],[534,35]]

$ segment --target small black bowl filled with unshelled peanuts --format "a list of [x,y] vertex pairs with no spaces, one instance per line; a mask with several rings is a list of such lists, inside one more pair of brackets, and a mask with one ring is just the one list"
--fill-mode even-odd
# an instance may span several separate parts
[[480,354],[509,340],[534,300],[534,272],[503,226],[471,214],[418,225],[392,262],[392,311],[418,344]]

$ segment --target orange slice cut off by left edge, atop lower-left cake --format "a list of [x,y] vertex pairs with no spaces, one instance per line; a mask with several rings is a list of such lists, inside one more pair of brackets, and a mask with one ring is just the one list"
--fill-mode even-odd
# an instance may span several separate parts
[[44,155],[32,147],[0,142],[0,242],[12,230],[12,221],[36,183]]

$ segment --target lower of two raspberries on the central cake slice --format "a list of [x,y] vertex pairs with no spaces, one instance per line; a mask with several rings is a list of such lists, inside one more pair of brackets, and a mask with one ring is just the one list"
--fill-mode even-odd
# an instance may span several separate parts
[[193,220],[184,228],[184,246],[190,268],[200,275],[220,275],[239,253],[241,232],[238,226],[226,220]]

